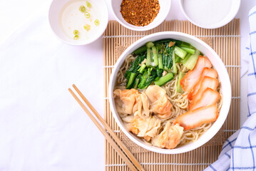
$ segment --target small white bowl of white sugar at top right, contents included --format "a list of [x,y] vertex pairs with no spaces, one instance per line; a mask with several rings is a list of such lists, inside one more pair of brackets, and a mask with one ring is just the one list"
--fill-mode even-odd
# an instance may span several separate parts
[[[190,4],[185,4],[185,1],[188,1],[187,3]],[[205,4],[200,1],[203,1]],[[179,0],[179,2],[183,14],[191,23],[202,28],[220,28],[235,18],[240,8],[241,0]],[[227,9],[225,6],[229,6],[228,8],[230,9],[225,11],[225,9]],[[190,11],[190,9],[192,10]],[[209,13],[209,11],[214,11],[214,13]],[[216,16],[218,19],[213,19]],[[213,21],[215,20],[215,22],[209,22],[212,20],[211,18]]]

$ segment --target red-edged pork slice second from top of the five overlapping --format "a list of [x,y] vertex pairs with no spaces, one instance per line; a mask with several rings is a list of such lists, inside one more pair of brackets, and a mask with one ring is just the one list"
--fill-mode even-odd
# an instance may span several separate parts
[[203,80],[204,76],[217,78],[217,71],[212,68],[203,68],[202,74],[199,78],[198,83],[195,84],[193,89],[188,94],[188,100],[192,100],[196,93],[198,93],[198,89],[200,88],[201,81]]

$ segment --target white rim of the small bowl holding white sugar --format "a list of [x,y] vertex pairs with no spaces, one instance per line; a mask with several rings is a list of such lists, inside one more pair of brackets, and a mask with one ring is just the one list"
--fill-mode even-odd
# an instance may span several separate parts
[[187,13],[185,12],[185,9],[184,9],[184,7],[183,7],[183,1],[184,1],[184,0],[179,0],[180,9],[181,9],[181,11],[183,11],[183,14],[184,14],[184,16],[188,19],[188,21],[190,21],[191,23],[195,24],[195,26],[199,26],[199,27],[201,27],[201,28],[209,28],[209,29],[220,28],[220,27],[225,26],[226,24],[230,23],[230,21],[232,21],[232,19],[234,19],[235,16],[237,15],[237,12],[239,11],[240,5],[241,5],[241,0],[237,0],[237,1],[238,1],[237,9],[234,10],[234,11],[232,11],[232,15],[230,16],[230,19],[227,19],[227,22],[222,22],[222,20],[221,20],[221,21],[217,22],[214,26],[203,26],[203,25],[198,24],[198,23],[196,23],[195,21],[193,21],[193,19],[191,19],[191,18],[187,15]]

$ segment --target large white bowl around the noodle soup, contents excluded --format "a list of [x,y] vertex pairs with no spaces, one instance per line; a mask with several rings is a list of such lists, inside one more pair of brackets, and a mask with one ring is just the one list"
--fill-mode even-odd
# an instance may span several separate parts
[[[203,135],[201,135],[197,141],[191,142],[181,147],[176,147],[175,149],[172,149],[172,150],[161,149],[158,147],[153,147],[151,145],[148,145],[137,136],[128,132],[123,125],[123,121],[121,120],[120,116],[116,111],[116,105],[113,98],[113,90],[116,84],[117,73],[123,64],[123,61],[128,56],[128,54],[132,53],[133,51],[135,51],[135,49],[139,48],[140,46],[143,46],[148,41],[158,41],[160,39],[165,39],[165,38],[174,38],[180,41],[188,42],[191,45],[195,46],[195,48],[198,48],[198,50],[200,50],[203,54],[205,54],[205,56],[207,56],[210,59],[214,68],[217,70],[217,73],[220,78],[222,95],[223,95],[223,103],[222,103],[222,108],[220,110],[220,115],[215,121],[215,123],[213,123],[213,125],[210,127],[210,129],[207,132],[205,132]],[[210,48],[208,44],[206,44],[205,42],[201,41],[198,38],[195,38],[194,36],[190,36],[188,34],[180,33],[180,32],[165,31],[160,33],[153,33],[143,38],[140,38],[140,40],[133,43],[131,46],[129,46],[126,49],[126,51],[122,53],[120,58],[118,58],[118,61],[116,62],[115,67],[113,68],[113,72],[111,74],[111,79],[109,83],[108,95],[109,95],[109,102],[111,105],[111,111],[116,120],[116,123],[118,123],[118,126],[121,128],[121,130],[123,130],[123,133],[125,133],[128,136],[128,138],[130,138],[130,140],[135,142],[137,145],[140,145],[141,147],[153,152],[159,152],[163,154],[178,154],[178,153],[194,150],[195,148],[198,148],[201,145],[204,145],[206,142],[208,142],[208,140],[213,138],[213,136],[218,132],[218,130],[220,130],[220,128],[222,127],[223,123],[227,118],[227,113],[230,109],[231,86],[230,86],[230,78],[228,76],[227,70],[224,64],[222,63],[220,57],[217,55],[217,53],[215,53],[215,51],[213,51],[213,48]]]

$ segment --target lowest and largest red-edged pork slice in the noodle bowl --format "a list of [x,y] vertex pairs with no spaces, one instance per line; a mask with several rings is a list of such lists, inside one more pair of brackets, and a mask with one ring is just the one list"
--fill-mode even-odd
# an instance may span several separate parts
[[204,123],[211,123],[219,116],[217,105],[209,105],[195,110],[190,110],[176,118],[173,123],[178,123],[184,130],[196,128]]

